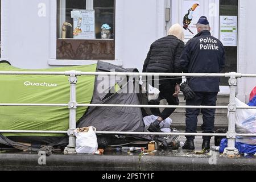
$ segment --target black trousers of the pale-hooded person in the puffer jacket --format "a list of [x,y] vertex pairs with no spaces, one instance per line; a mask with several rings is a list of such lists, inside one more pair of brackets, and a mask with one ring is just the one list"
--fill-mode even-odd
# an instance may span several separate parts
[[[159,81],[159,97],[157,100],[151,100],[148,102],[149,105],[159,105],[160,101],[166,99],[168,105],[179,105],[179,98],[172,96],[175,93],[175,85],[171,84],[170,81]],[[152,114],[155,116],[166,119],[170,117],[176,108],[165,108],[162,113],[160,113],[159,108],[151,108]]]

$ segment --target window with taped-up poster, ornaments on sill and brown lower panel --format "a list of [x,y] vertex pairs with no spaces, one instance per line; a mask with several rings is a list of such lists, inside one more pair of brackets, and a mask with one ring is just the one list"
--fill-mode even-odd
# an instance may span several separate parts
[[57,0],[57,59],[114,60],[114,6],[114,0]]

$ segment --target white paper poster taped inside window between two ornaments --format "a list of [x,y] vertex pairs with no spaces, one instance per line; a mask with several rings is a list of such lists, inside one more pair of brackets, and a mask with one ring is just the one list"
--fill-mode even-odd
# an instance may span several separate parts
[[73,39],[95,39],[95,11],[73,10]]

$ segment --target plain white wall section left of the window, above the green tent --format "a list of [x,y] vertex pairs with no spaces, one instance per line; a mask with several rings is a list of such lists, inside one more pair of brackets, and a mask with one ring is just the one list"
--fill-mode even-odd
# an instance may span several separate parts
[[[48,68],[49,1],[2,0],[3,59],[19,68]],[[38,16],[39,3],[46,4],[46,17]]]

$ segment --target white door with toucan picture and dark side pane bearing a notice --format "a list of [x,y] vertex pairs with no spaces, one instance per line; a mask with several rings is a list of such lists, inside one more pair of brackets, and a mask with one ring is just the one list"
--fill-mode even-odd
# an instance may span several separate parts
[[[211,34],[223,41],[226,50],[225,72],[237,72],[237,23],[238,0],[166,0],[166,6],[170,5],[171,19],[166,22],[166,30],[172,24],[179,23],[183,26],[184,16],[187,14],[192,17],[187,30],[184,29],[185,40],[197,34],[196,23],[200,16],[207,16]],[[191,11],[192,10],[192,11]],[[225,17],[224,17],[225,16]],[[221,19],[222,18],[222,19]],[[230,21],[232,25],[229,24]],[[227,27],[229,26],[229,27]],[[231,28],[231,29],[230,29]],[[221,78],[220,94],[229,94],[228,78]]]

